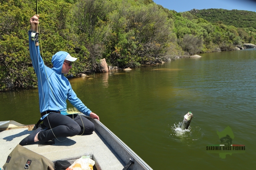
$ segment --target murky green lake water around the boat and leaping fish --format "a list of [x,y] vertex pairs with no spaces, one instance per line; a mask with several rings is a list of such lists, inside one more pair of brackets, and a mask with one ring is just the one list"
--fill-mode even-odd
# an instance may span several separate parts
[[[100,121],[154,170],[255,167],[256,51],[201,56],[70,83]],[[0,120],[34,124],[40,118],[37,89],[0,93],[0,106]],[[189,130],[178,130],[189,111],[194,115]],[[222,144],[217,132],[225,129],[232,144],[245,145],[245,153],[209,153],[207,145]]]

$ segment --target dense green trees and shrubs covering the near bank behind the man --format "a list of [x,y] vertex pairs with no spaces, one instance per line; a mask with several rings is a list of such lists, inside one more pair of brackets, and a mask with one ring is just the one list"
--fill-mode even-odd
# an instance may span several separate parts
[[[0,91],[36,88],[28,50],[35,0],[0,0]],[[77,57],[70,74],[93,73],[100,59],[118,68],[175,57],[233,50],[255,43],[247,28],[177,13],[152,0],[38,0],[44,62],[67,51]]]

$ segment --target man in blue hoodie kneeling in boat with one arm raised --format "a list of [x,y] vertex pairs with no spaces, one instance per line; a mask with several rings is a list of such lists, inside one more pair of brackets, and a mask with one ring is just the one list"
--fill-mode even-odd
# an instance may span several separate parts
[[94,124],[90,120],[78,114],[67,115],[67,99],[81,113],[99,120],[99,116],[90,111],[76,96],[70,82],[64,77],[64,74],[69,73],[72,62],[76,61],[77,58],[71,57],[67,52],[59,51],[52,56],[52,68],[44,65],[37,38],[38,17],[38,15],[34,15],[29,20],[31,25],[29,30],[29,52],[38,78],[41,119],[48,130],[38,127],[35,132],[24,138],[20,145],[93,133]]

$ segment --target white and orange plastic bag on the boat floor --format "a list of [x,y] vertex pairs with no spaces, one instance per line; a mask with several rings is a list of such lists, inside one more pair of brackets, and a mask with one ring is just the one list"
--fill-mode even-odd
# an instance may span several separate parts
[[76,159],[76,161],[66,170],[93,170],[94,164],[95,161],[90,159],[90,156],[82,156],[81,158]]

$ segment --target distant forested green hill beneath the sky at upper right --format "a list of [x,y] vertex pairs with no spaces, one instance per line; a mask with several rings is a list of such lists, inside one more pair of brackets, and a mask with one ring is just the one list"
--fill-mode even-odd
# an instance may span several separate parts
[[198,18],[203,18],[210,23],[221,21],[225,25],[235,26],[237,28],[253,28],[256,31],[256,12],[244,10],[227,9],[192,9],[189,11]]

